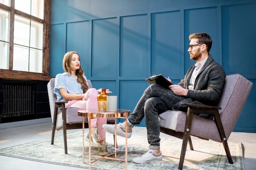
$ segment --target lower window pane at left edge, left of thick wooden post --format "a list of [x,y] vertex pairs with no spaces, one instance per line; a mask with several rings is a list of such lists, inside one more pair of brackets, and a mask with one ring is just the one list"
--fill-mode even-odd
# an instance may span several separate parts
[[9,43],[0,41],[0,69],[8,69]]

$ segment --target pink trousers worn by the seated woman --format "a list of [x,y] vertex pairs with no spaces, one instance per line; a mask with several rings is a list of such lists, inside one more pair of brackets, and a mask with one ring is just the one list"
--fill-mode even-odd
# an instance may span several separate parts
[[[65,108],[67,107],[77,107],[81,110],[83,109],[98,109],[98,102],[97,102],[97,89],[90,88],[85,93],[85,96],[82,100],[69,100]],[[103,124],[107,123],[107,118],[92,118],[91,119],[91,127],[97,127],[97,131],[99,134],[100,140],[106,139],[106,131],[102,128]]]

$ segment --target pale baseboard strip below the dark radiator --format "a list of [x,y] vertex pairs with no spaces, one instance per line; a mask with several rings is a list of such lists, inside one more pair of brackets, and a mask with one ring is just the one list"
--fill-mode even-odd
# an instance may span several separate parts
[[0,129],[27,126],[31,124],[46,123],[46,122],[52,122],[52,118],[42,118],[42,119],[24,120],[24,121],[18,121],[18,122],[10,122],[10,123],[1,123]]

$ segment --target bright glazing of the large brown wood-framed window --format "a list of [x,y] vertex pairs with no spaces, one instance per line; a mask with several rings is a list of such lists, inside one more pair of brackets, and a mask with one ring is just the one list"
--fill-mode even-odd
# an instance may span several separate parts
[[[15,9],[44,19],[44,0],[13,0]],[[0,0],[10,7],[11,0]],[[43,72],[43,24],[25,15],[14,14],[14,27],[10,27],[10,13],[0,9],[0,69],[24,72]],[[10,29],[13,29],[13,60],[9,63]]]

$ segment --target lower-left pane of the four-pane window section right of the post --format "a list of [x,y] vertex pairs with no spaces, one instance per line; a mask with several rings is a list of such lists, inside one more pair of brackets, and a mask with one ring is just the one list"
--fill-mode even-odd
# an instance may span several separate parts
[[29,48],[14,45],[13,47],[13,70],[29,71]]

